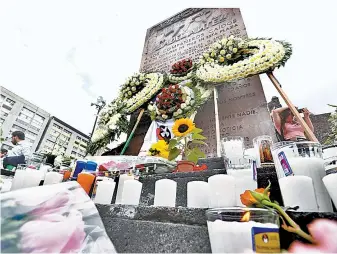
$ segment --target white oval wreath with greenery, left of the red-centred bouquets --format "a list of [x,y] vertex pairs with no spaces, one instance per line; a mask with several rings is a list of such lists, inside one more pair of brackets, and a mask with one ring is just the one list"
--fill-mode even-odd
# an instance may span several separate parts
[[129,77],[122,85],[119,101],[125,104],[123,112],[131,114],[147,103],[164,85],[161,73],[140,73]]

